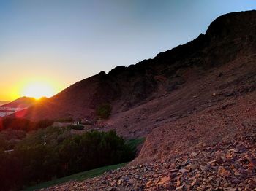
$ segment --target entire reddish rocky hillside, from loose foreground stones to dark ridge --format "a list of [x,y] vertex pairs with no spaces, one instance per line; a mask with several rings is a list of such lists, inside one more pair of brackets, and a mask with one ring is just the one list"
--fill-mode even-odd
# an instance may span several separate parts
[[222,15],[192,42],[78,82],[50,98],[49,110],[31,109],[37,117],[26,117],[36,120],[53,114],[49,104],[57,117],[64,102],[70,115],[110,102],[105,130],[146,136],[128,167],[49,190],[255,189],[255,33],[256,11]]

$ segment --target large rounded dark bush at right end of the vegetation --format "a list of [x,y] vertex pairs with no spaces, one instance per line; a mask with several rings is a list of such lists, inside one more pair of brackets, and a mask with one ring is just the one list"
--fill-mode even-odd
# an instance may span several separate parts
[[132,160],[134,153],[115,131],[97,130],[73,136],[59,146],[59,159],[66,168],[63,176],[104,165]]

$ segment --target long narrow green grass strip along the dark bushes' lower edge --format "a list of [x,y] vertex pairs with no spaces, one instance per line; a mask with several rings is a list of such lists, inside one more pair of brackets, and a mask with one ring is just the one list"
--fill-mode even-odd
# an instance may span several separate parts
[[60,179],[55,179],[55,180],[48,181],[48,182],[42,182],[41,184],[37,184],[33,187],[28,187],[28,188],[24,189],[24,191],[42,189],[42,188],[51,187],[53,185],[62,184],[64,182],[69,182],[69,181],[82,181],[84,179],[99,176],[100,174],[103,174],[105,171],[110,171],[112,169],[121,168],[124,165],[127,165],[127,163],[121,163],[121,164],[117,164],[117,165],[108,165],[108,166],[104,166],[101,168],[95,168],[90,171],[83,171],[78,174],[72,174],[70,176],[62,177]]

